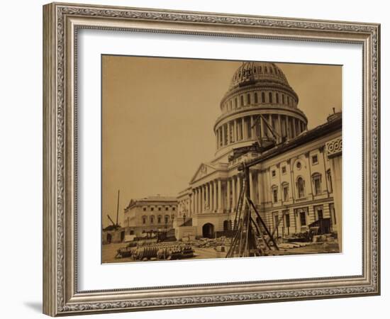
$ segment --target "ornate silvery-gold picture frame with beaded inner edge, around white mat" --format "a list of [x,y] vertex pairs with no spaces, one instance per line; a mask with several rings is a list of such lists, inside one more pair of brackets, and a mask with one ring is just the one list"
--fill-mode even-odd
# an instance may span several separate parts
[[[225,35],[363,47],[363,273],[318,279],[250,281],[150,289],[78,291],[75,150],[77,30]],[[379,38],[375,23],[236,16],[79,4],[43,7],[43,312],[77,315],[238,303],[372,296],[380,293]]]

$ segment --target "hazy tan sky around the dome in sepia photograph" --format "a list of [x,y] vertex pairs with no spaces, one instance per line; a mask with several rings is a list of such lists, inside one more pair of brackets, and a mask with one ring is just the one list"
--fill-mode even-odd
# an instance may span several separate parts
[[[102,57],[102,214],[131,198],[177,196],[213,159],[219,103],[242,62]],[[340,66],[277,63],[299,96],[308,128],[341,109]],[[115,220],[114,220],[115,221]]]

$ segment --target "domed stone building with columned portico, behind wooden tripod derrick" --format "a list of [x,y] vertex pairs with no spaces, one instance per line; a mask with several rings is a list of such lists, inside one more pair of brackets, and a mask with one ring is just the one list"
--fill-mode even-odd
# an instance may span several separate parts
[[341,113],[333,109],[323,124],[308,130],[299,96],[282,69],[269,62],[243,62],[219,107],[210,128],[216,152],[199,163],[177,196],[177,239],[232,229],[242,162],[255,163],[250,198],[276,236],[305,232],[318,220],[325,222],[325,233],[340,234]]

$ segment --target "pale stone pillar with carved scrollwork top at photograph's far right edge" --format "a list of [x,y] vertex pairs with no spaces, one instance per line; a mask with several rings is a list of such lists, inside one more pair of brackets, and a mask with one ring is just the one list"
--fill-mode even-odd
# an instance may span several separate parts
[[329,142],[326,142],[325,146],[330,163],[330,174],[332,177],[336,228],[338,231],[338,247],[340,252],[342,252],[342,139],[340,137],[330,140]]

